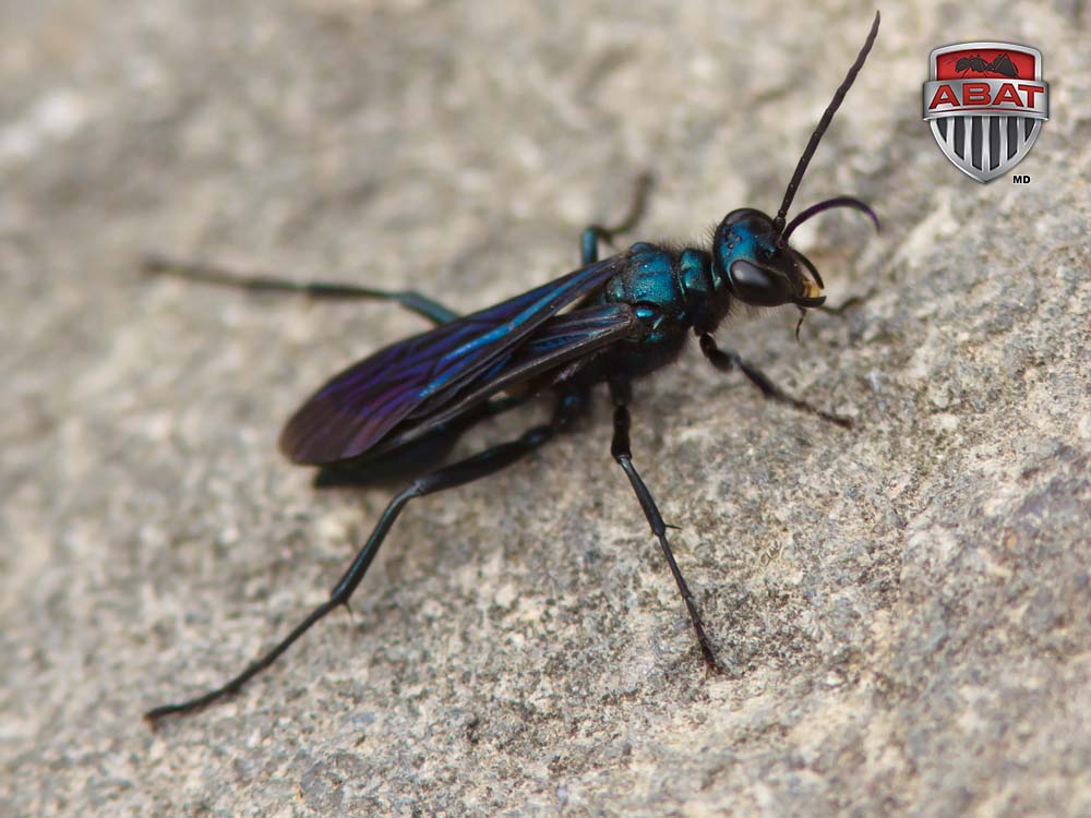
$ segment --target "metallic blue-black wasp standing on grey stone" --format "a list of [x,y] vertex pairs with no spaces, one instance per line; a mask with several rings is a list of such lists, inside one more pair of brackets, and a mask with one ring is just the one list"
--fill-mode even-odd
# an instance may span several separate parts
[[[668,526],[630,450],[631,384],[672,361],[692,330],[702,352],[719,370],[739,369],[766,397],[832,422],[844,419],[789,397],[736,353],[716,346],[712,332],[735,301],[754,306],[794,304],[800,321],[820,308],[823,280],[789,244],[795,228],[834,207],[871,207],[852,196],[819,202],[787,221],[795,191],[844,95],[864,64],[879,15],[855,62],[826,108],[795,168],[780,210],[770,218],[752,208],[729,213],[711,251],[674,250],[647,242],[599,260],[599,243],[631,228],[643,209],[648,183],[639,185],[632,212],[613,228],[590,227],[582,238],[584,266],[495,306],[459,316],[416,292],[388,292],[333,284],[297,284],[240,276],[219,267],[148,258],[151,272],[181,275],[251,290],[303,292],[316,298],[395,301],[435,324],[432,329],[379,350],[332,377],[285,426],[280,447],[293,461],[319,466],[319,485],[371,482],[398,472],[408,485],[394,496],[329,599],[256,662],[203,696],[145,713],[155,723],[197,710],[236,693],[272,664],[319,619],[347,604],[398,515],[410,500],[495,473],[564,430],[588,404],[592,386],[606,383],[614,405],[611,454],[624,470],[690,614],[705,664],[718,670],[693,594],[667,537]],[[565,311],[567,308],[571,310]],[[799,326],[796,326],[799,332]],[[503,393],[503,395],[501,394]],[[553,396],[549,421],[516,440],[447,462],[457,437],[470,425],[541,394]]]

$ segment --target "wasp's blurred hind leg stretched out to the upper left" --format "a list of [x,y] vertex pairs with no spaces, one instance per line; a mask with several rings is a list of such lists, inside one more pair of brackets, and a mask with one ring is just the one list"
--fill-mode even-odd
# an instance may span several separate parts
[[185,278],[190,281],[233,287],[250,292],[293,292],[313,299],[367,299],[372,301],[396,301],[406,310],[423,315],[433,324],[446,324],[458,317],[458,313],[413,290],[376,290],[371,287],[356,287],[332,281],[292,281],[288,278],[247,273],[216,264],[199,261],[170,258],[164,255],[146,255],[141,268],[147,275],[165,275]]

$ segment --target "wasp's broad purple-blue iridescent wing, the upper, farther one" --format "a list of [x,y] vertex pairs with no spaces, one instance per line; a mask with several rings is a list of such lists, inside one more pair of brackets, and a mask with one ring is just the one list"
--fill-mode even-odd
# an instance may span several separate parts
[[612,256],[495,306],[397,341],[334,375],[291,417],[280,448],[299,464],[363,454],[427,401],[445,404],[497,357],[616,273]]

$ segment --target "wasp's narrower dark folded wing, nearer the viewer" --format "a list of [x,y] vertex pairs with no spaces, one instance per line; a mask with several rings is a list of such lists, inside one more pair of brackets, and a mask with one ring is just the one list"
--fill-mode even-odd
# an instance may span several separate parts
[[575,371],[570,371],[573,362],[586,363],[596,352],[630,336],[636,324],[636,313],[628,304],[600,304],[554,315],[443,402],[428,401],[413,410],[375,445],[375,452],[403,446],[502,389],[528,382],[540,388],[564,380]]

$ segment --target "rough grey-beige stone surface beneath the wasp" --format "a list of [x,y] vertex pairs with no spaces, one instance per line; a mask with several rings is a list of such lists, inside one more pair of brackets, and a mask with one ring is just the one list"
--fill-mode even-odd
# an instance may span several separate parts
[[[1091,815],[1091,19],[885,9],[800,205],[844,320],[721,330],[854,432],[690,354],[637,462],[730,673],[578,435],[399,521],[355,600],[239,697],[149,732],[320,602],[387,493],[275,450],[325,375],[421,327],[142,280],[142,250],[469,310],[774,209],[864,3],[35,0],[0,15],[0,814]],[[563,7],[564,10],[561,10]],[[576,8],[578,7],[578,11]],[[820,35],[820,36],[818,36]],[[1040,47],[1053,119],[980,185],[920,120],[928,51]],[[516,429],[516,419],[467,441]]]

